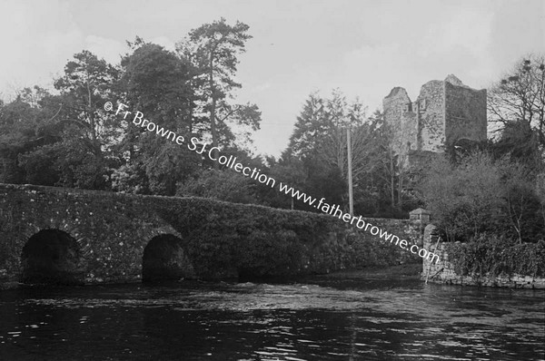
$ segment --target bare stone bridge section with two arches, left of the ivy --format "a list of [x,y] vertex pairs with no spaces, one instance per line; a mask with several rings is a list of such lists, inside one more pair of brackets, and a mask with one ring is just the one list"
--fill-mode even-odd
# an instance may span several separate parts
[[154,211],[161,198],[0,184],[0,281],[130,281],[143,262],[153,278],[159,260],[191,276],[180,232]]

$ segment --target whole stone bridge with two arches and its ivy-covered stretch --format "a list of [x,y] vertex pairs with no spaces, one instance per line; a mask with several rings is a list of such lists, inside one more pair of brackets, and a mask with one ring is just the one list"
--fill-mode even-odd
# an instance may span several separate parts
[[[409,220],[384,227],[419,236]],[[4,287],[325,273],[362,259],[354,238],[324,214],[0,183]]]

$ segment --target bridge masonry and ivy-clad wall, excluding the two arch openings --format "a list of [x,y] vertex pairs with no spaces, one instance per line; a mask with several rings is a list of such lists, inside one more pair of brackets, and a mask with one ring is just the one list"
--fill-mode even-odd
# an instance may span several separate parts
[[[419,222],[364,220],[421,244]],[[75,240],[84,283],[141,279],[144,248],[162,235],[181,239],[194,278],[236,278],[240,272],[284,277],[421,261],[325,214],[0,184],[0,288],[21,280],[22,250],[43,229],[59,229]]]

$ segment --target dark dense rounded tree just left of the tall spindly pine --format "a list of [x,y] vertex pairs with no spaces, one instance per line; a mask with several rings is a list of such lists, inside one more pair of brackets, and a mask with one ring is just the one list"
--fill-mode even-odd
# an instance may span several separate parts
[[[194,125],[189,65],[177,54],[141,38],[130,45],[134,51],[122,60],[123,76],[118,84],[124,102],[143,112],[146,119],[187,136]],[[118,149],[124,152],[124,161],[114,171],[114,190],[174,195],[176,184],[199,166],[199,157],[187,147],[127,122]]]

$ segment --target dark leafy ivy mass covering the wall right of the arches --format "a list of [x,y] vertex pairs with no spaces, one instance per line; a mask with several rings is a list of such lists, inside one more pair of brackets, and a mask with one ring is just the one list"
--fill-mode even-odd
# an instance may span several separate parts
[[200,198],[163,209],[203,278],[322,273],[342,257],[330,237],[342,223],[326,215]]

